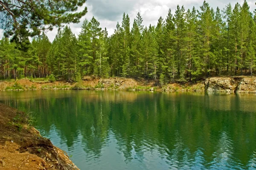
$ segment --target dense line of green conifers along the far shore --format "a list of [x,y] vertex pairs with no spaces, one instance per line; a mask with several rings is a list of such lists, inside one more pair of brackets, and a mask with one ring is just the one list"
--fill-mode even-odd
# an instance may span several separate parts
[[256,11],[246,2],[214,10],[177,6],[157,26],[143,26],[140,13],[130,28],[128,14],[108,36],[93,17],[78,37],[66,26],[51,43],[43,33],[25,50],[0,40],[0,79],[47,77],[73,81],[86,75],[192,81],[212,75],[256,71]]

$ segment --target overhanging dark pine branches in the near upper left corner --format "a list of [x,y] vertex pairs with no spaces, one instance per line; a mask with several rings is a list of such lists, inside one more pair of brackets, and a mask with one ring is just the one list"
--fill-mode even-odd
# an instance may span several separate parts
[[6,37],[18,43],[20,49],[28,50],[29,39],[43,31],[51,31],[62,24],[79,23],[87,13],[87,7],[77,11],[86,0],[1,0],[2,28]]

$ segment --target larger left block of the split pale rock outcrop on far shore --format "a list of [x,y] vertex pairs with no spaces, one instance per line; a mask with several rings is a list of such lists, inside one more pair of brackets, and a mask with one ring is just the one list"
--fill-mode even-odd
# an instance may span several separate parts
[[206,91],[233,93],[231,78],[208,78],[204,82]]

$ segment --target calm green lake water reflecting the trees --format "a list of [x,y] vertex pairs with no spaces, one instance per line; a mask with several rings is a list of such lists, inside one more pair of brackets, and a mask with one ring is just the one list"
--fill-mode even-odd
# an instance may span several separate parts
[[256,95],[0,92],[81,170],[255,169]]

